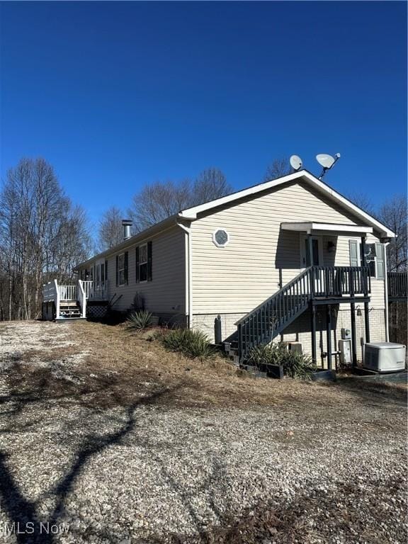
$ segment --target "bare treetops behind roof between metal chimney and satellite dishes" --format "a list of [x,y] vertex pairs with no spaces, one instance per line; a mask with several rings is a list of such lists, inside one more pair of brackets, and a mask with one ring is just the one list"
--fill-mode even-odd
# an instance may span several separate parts
[[211,168],[204,170],[195,181],[156,181],[142,188],[132,198],[128,214],[134,228],[140,232],[183,208],[207,202],[231,191],[222,171]]

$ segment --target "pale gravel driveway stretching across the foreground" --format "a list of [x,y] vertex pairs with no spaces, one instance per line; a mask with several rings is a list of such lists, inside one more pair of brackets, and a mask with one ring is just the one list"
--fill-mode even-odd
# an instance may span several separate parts
[[[1,542],[406,542],[400,395],[198,409],[153,380],[104,406],[70,324],[0,333]],[[11,521],[34,534],[8,536]]]

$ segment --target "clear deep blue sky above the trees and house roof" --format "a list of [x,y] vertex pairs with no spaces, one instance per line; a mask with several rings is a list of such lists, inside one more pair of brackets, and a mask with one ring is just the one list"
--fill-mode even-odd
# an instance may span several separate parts
[[42,156],[91,218],[143,184],[341,153],[374,203],[407,181],[407,4],[1,5],[1,176]]

